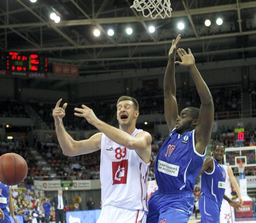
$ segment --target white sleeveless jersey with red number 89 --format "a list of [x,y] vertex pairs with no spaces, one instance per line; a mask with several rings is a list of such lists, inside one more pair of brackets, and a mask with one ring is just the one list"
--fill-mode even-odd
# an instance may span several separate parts
[[[135,129],[136,136],[141,129]],[[123,147],[102,133],[100,154],[101,206],[112,205],[148,212],[147,182],[149,163],[135,150]]]

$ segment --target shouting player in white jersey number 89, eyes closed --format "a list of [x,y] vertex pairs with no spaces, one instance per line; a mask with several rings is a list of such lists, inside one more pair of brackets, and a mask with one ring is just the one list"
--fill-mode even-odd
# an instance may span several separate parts
[[90,139],[75,141],[66,132],[62,118],[67,103],[60,99],[53,109],[55,130],[64,155],[75,156],[101,149],[100,182],[101,213],[97,223],[144,223],[148,212],[148,167],[151,155],[151,135],[135,128],[139,115],[137,100],[128,96],[118,99],[119,129],[104,123],[92,109],[82,105],[75,115],[84,117],[100,133]]

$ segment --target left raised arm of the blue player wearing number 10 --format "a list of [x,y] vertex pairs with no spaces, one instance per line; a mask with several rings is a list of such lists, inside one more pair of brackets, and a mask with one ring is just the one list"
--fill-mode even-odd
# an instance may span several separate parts
[[180,42],[180,34],[176,40],[172,40],[172,47],[169,51],[169,60],[164,74],[164,116],[165,121],[172,131],[178,118],[178,105],[176,101],[176,84],[175,84],[175,55]]

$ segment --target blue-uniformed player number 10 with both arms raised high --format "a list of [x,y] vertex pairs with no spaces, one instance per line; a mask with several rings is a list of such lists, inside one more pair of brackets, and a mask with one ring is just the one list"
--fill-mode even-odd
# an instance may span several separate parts
[[[212,95],[198,72],[188,49],[178,49],[180,35],[172,41],[164,75],[164,115],[169,136],[160,148],[155,162],[158,190],[148,201],[147,223],[187,223],[193,212],[197,176],[204,163],[206,146],[213,125]],[[181,62],[175,62],[178,53]],[[174,63],[188,68],[200,96],[200,110],[183,109],[178,115]]]

